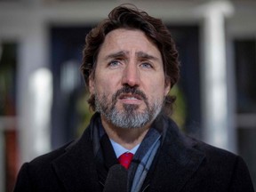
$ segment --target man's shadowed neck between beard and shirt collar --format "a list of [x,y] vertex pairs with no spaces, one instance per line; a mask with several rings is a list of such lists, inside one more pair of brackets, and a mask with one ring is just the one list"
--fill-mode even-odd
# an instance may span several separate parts
[[101,122],[109,139],[115,140],[116,143],[127,149],[132,149],[140,144],[150,126],[150,124],[148,124],[140,128],[124,129],[111,124],[104,116],[101,116]]

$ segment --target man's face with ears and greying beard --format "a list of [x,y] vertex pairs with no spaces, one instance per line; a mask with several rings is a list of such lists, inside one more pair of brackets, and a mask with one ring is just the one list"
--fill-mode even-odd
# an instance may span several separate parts
[[122,128],[150,124],[170,90],[156,45],[140,30],[124,28],[106,36],[89,82],[102,121]]

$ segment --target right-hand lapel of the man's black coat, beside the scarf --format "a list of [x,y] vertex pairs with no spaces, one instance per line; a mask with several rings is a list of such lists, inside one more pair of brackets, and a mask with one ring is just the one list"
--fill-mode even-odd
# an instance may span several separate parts
[[182,135],[172,121],[164,126],[167,132],[149,181],[149,191],[178,192],[196,172],[204,154],[193,148],[193,140]]

